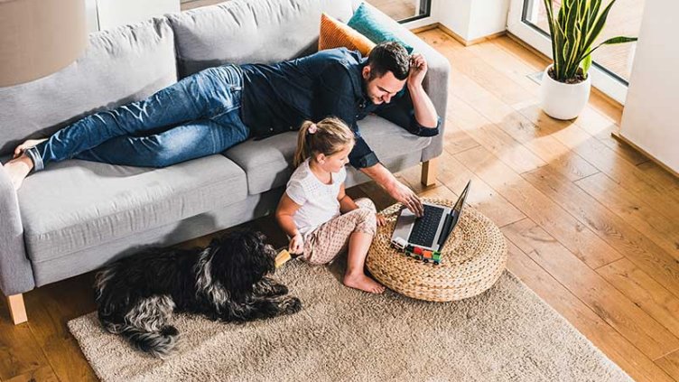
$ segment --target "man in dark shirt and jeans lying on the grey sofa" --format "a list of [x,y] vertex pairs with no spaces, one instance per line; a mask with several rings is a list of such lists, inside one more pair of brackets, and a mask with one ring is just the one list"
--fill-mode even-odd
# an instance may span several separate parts
[[367,59],[340,48],[273,65],[210,68],[49,139],[26,141],[5,170],[18,190],[29,172],[69,158],[163,167],[338,116],[357,135],[350,163],[422,215],[421,200],[378,162],[357,121],[376,113],[414,135],[437,135],[440,118],[422,87],[426,71],[422,55],[409,56],[396,42],[378,44]]

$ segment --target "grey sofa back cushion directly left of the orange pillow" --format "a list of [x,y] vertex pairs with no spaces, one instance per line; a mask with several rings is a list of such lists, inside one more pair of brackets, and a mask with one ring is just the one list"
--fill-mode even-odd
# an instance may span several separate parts
[[351,0],[233,0],[170,14],[180,76],[224,63],[272,63],[312,53],[323,12],[346,23]]

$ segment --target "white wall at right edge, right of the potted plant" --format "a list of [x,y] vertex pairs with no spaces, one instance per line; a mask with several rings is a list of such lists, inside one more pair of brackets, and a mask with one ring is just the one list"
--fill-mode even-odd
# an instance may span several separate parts
[[679,172],[679,2],[646,1],[620,135]]

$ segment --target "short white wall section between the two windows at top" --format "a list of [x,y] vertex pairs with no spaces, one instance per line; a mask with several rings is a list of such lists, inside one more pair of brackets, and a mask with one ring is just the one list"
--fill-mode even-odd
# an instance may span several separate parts
[[509,0],[434,0],[439,23],[471,42],[507,29]]

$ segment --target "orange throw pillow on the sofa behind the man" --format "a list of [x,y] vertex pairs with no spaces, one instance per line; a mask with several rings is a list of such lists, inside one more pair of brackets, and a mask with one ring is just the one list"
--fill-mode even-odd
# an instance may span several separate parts
[[367,53],[375,47],[375,42],[371,42],[346,23],[328,14],[321,14],[319,51],[340,47],[345,47],[349,51],[360,51],[363,57],[367,57]]

